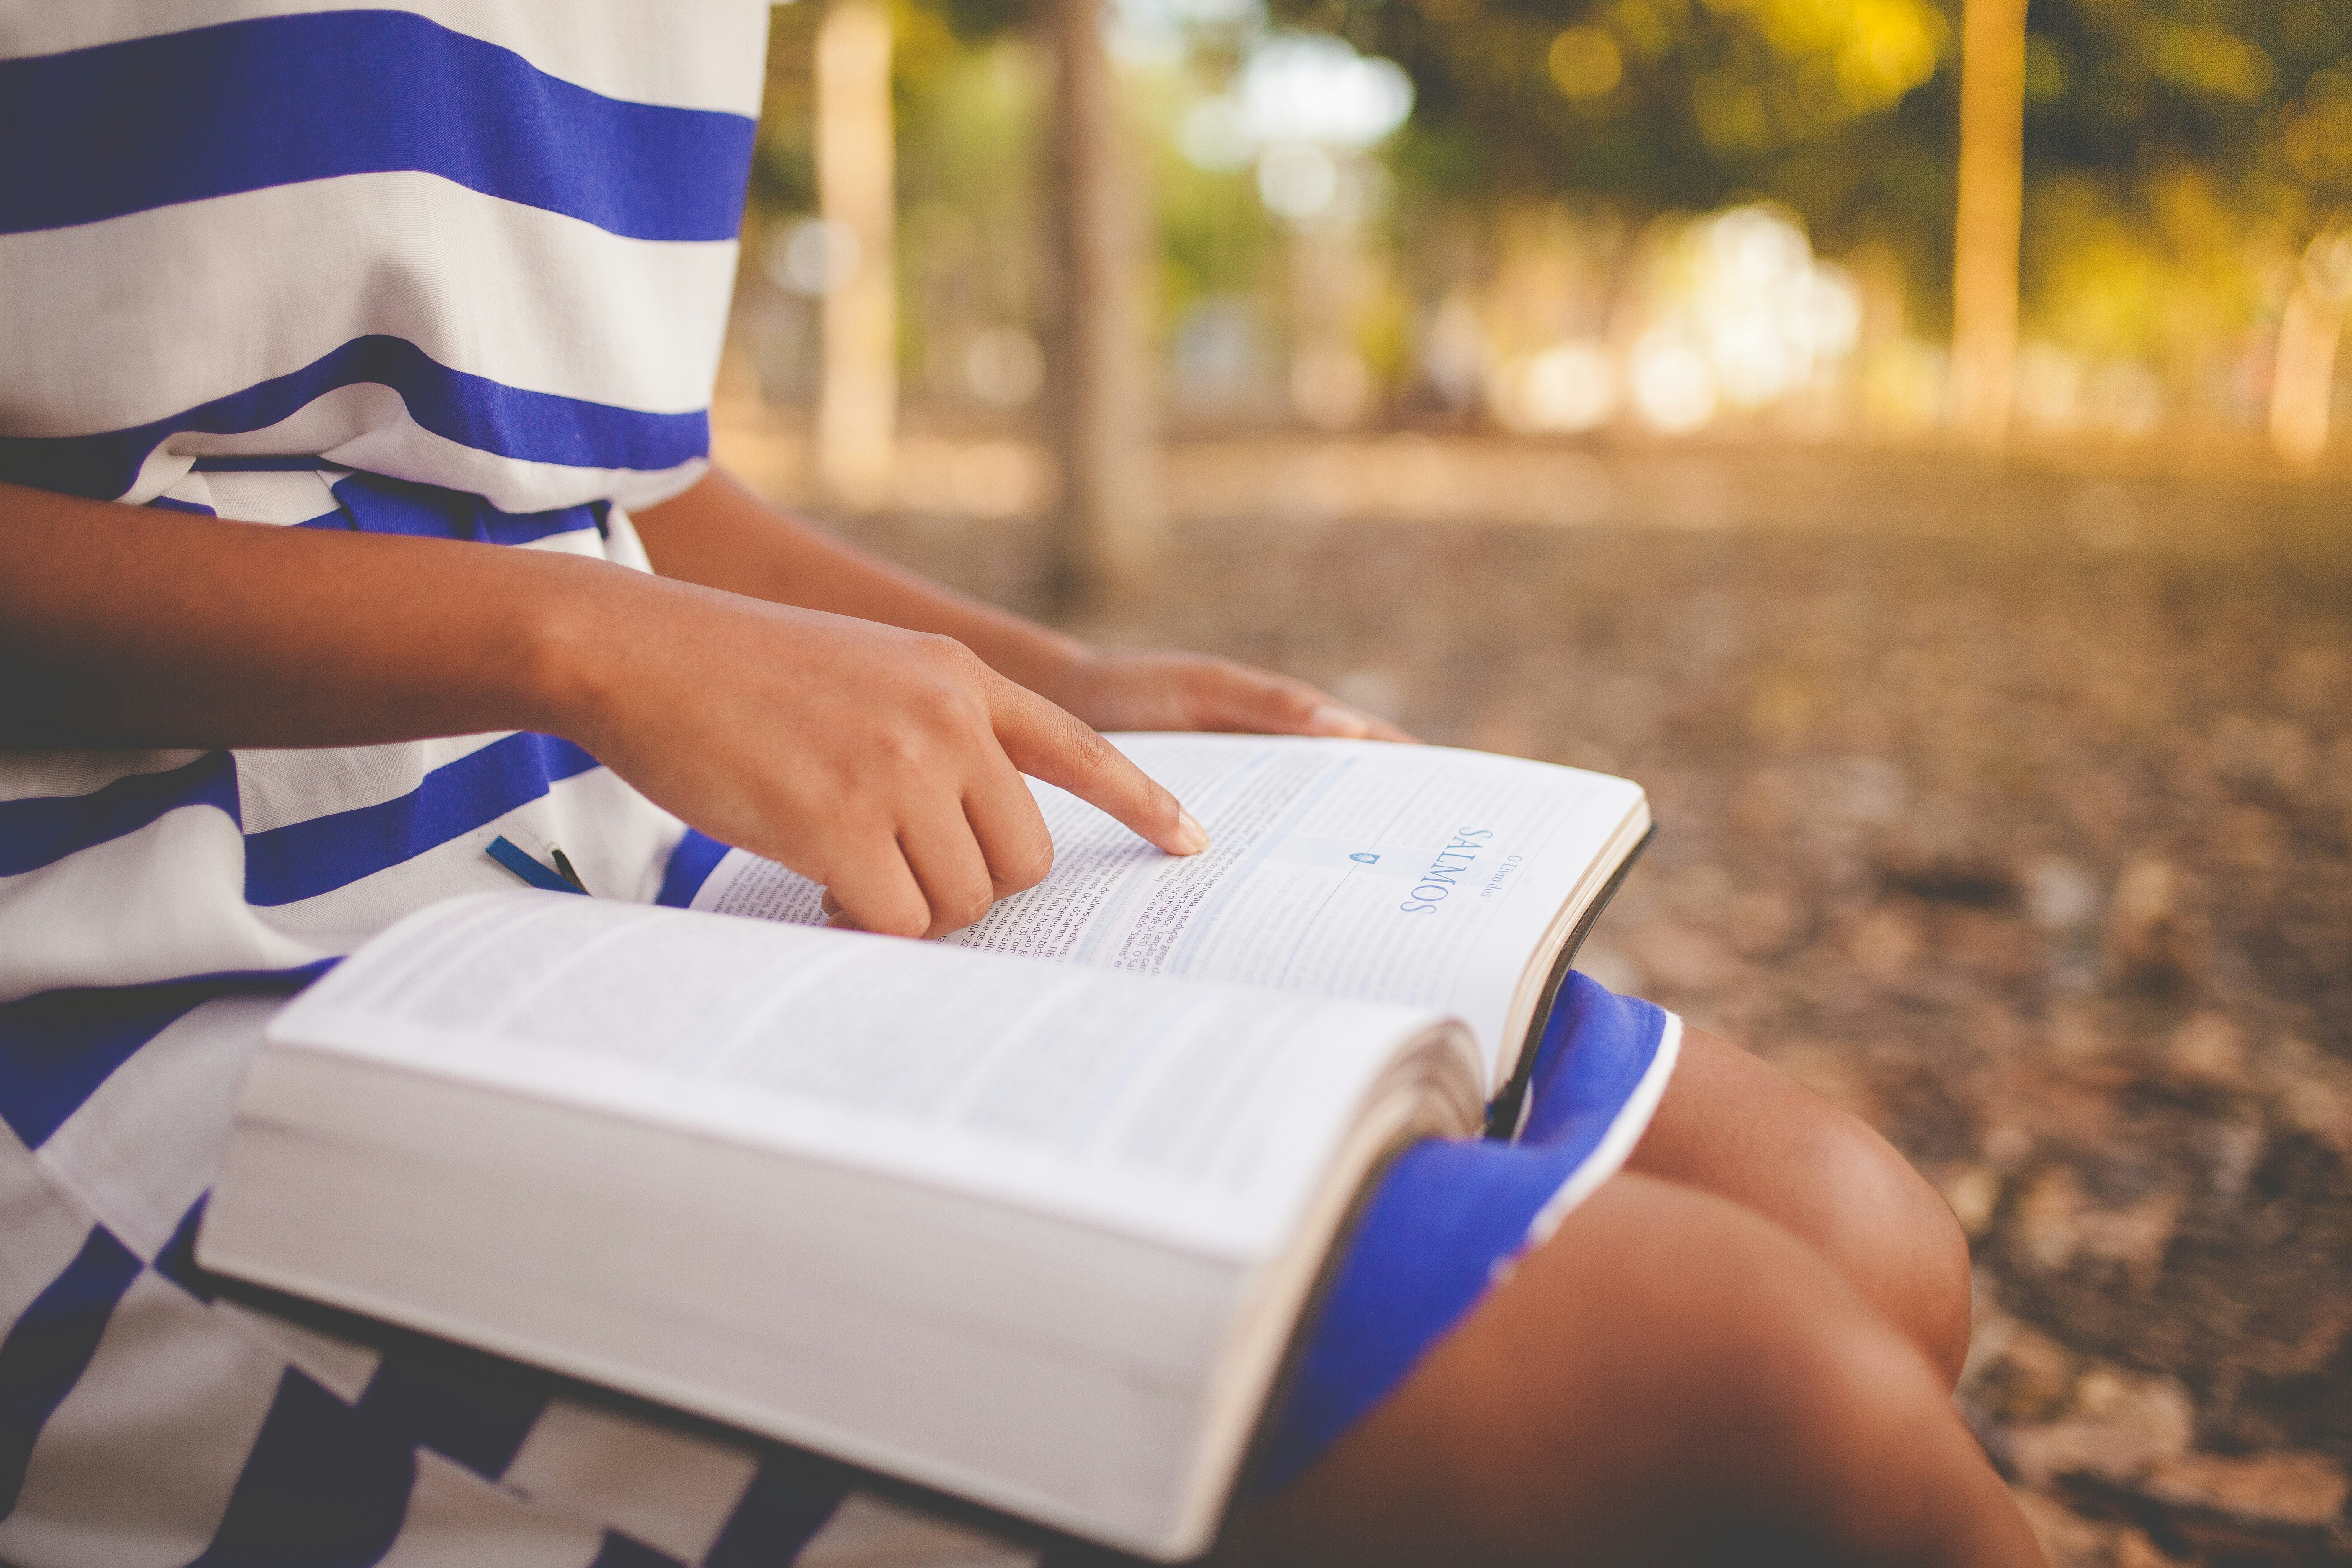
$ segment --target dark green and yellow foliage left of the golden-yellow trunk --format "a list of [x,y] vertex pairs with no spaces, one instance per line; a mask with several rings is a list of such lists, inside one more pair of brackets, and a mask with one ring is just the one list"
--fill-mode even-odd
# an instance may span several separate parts
[[1291,0],[1402,63],[1409,190],[1599,193],[1630,209],[1766,195],[1818,242],[1947,244],[1955,21],[1929,0]]

